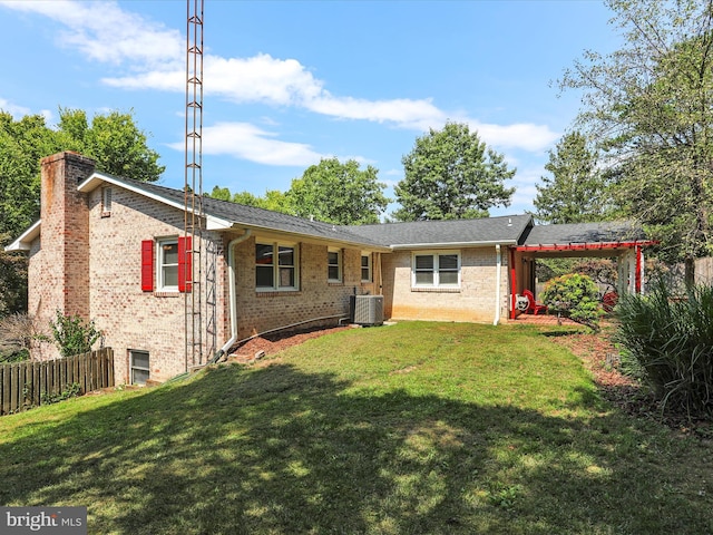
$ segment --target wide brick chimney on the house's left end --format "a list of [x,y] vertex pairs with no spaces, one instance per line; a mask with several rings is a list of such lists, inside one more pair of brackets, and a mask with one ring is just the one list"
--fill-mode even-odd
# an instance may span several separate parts
[[42,158],[42,220],[37,315],[53,320],[56,311],[89,319],[89,207],[77,186],[95,162],[64,152]]

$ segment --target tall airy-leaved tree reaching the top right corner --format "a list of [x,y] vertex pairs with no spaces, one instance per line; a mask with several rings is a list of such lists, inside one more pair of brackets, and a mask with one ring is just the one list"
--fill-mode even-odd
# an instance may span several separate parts
[[667,260],[713,252],[713,0],[609,0],[624,43],[587,52],[561,80],[584,89],[582,125],[602,139],[617,202]]

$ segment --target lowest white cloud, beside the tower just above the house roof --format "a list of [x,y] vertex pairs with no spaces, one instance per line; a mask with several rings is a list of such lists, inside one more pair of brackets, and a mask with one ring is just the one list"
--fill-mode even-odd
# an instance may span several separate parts
[[[247,123],[218,123],[203,128],[203,153],[229,155],[257,164],[301,167],[331,157],[314,152],[306,144],[282,142],[274,139],[275,136]],[[175,143],[169,147],[183,150],[184,144]]]

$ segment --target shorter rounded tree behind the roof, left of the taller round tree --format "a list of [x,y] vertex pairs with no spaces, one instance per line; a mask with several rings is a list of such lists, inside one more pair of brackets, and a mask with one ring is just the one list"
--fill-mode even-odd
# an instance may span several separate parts
[[354,159],[343,164],[338,158],[322,159],[292,181],[287,197],[301,217],[340,225],[379,223],[389,200],[378,173],[371,165],[360,169]]

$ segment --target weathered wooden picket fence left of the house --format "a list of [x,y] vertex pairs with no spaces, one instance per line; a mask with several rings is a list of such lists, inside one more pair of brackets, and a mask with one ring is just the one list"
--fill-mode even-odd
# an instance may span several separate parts
[[113,386],[111,348],[43,362],[1,364],[0,416],[39,407],[69,390],[82,395]]

